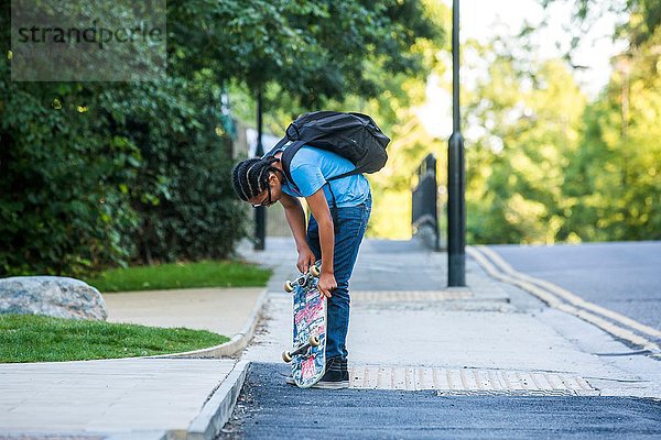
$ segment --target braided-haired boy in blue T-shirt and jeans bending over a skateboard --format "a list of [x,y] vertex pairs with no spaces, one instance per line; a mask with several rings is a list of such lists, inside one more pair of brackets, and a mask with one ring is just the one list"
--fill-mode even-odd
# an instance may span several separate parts
[[[306,273],[322,260],[318,289],[328,301],[326,373],[314,386],[345,388],[349,385],[349,278],[371,212],[369,182],[361,174],[327,182],[355,165],[335,153],[304,145],[290,164],[292,185],[280,162],[285,147],[272,156],[239,163],[232,169],[232,183],[239,198],[253,207],[282,204],[296,242],[299,271]],[[310,207],[307,231],[297,197],[304,197]]]

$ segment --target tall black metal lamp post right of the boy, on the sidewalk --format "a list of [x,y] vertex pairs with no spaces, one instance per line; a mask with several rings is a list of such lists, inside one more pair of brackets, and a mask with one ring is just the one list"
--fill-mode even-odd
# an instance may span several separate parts
[[447,285],[466,286],[466,176],[459,123],[459,0],[452,3],[453,133],[447,148]]

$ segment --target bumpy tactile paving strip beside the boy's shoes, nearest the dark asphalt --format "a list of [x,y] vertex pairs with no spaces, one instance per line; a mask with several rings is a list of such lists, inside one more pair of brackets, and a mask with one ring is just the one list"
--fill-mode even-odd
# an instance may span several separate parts
[[581,376],[550,372],[520,372],[423,366],[353,366],[350,387],[365,389],[435,389],[438,395],[595,396]]

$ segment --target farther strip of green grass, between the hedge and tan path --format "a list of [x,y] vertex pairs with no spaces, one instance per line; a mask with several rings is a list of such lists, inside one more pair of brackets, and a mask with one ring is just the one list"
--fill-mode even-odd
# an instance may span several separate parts
[[271,271],[239,262],[172,263],[102,272],[85,279],[101,293],[192,287],[261,287]]

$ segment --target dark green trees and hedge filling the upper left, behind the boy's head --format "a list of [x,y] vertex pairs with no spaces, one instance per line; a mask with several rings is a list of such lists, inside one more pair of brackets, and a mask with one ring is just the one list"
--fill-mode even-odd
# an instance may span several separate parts
[[166,75],[12,82],[10,1],[0,9],[0,275],[229,256],[246,210],[223,91],[271,90],[290,112],[378,96],[383,75],[418,70],[411,45],[440,35],[418,0],[171,0]]

